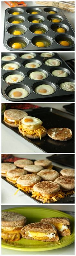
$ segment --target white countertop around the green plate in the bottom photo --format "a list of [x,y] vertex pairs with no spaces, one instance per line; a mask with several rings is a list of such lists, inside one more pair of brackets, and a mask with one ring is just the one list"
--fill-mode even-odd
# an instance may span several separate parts
[[[23,205],[24,207],[25,205]],[[8,209],[8,208],[13,208],[13,207],[16,207],[16,205],[12,206],[12,205],[3,205],[2,206],[2,210],[4,209]],[[17,205],[17,207],[20,207],[20,205]],[[30,206],[31,207],[34,207],[33,205]],[[39,207],[39,206],[36,206],[36,207]],[[42,207],[42,206],[41,206]],[[48,208],[48,209],[55,209],[55,210],[61,210],[61,211],[68,211],[67,213],[69,214],[69,211],[71,211],[70,215],[72,215],[74,217],[74,205],[51,205],[51,206],[48,206],[48,205],[43,205],[43,208]],[[74,255],[74,243],[71,244],[71,245],[68,245],[64,248],[60,248],[60,249],[56,249],[56,250],[51,250],[51,251],[43,251],[43,252],[17,252],[17,251],[12,251],[12,250],[9,250],[9,249],[5,249],[5,248],[2,248],[2,255],[3,254],[6,254],[6,255]]]

